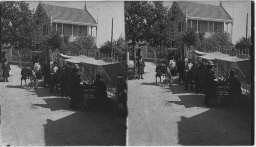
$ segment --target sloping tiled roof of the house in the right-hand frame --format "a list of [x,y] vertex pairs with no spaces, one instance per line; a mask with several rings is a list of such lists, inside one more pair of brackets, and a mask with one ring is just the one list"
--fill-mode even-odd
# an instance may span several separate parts
[[177,4],[181,8],[184,15],[187,11],[188,18],[204,18],[232,21],[232,18],[221,6],[205,5],[186,1],[177,1]]

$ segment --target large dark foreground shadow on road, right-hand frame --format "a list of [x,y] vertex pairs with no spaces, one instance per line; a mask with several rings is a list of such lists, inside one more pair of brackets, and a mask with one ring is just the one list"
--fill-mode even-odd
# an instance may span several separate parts
[[[218,114],[218,115],[217,115]],[[181,145],[250,145],[250,114],[210,109],[178,123]]]

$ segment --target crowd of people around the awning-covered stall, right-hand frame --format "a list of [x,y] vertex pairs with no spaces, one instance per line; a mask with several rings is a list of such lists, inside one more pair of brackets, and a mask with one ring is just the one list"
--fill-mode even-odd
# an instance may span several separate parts
[[[167,60],[167,66],[172,76],[176,76],[178,73],[179,84],[183,85],[185,83],[184,90],[187,91],[188,85],[190,85],[190,90],[195,90],[195,94],[205,94],[204,104],[209,106],[217,90],[214,63],[208,61],[205,65],[201,58],[198,58],[197,62],[193,63],[190,58],[182,57],[180,60],[178,57],[175,58],[174,55],[168,55]],[[230,72],[230,78],[225,81],[224,85],[229,85],[229,101],[242,94],[241,83],[238,78],[234,77],[234,71]]]

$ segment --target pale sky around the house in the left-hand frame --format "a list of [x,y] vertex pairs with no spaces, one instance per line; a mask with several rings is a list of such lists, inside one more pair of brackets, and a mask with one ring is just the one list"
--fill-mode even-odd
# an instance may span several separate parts
[[[36,9],[39,1],[29,1],[30,9]],[[44,4],[65,6],[71,8],[84,9],[85,1],[41,1]],[[113,20],[113,39],[117,39],[121,34],[124,37],[124,9],[122,1],[87,1],[87,10],[97,21],[98,16],[98,30],[97,30],[97,46],[100,47],[107,40],[111,41],[111,27]],[[99,10],[99,13],[98,13]],[[89,28],[91,34],[91,28]],[[93,36],[96,34],[95,27],[93,28]]]

